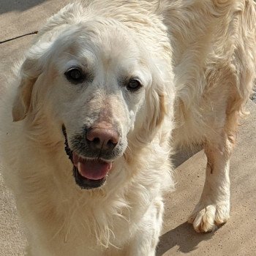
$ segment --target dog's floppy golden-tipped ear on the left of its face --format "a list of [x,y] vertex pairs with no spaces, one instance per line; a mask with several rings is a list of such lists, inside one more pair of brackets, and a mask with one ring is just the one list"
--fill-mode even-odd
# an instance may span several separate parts
[[30,54],[21,66],[20,85],[18,86],[17,94],[12,105],[13,121],[23,120],[31,108],[33,86],[42,73],[44,66],[42,56],[45,51],[40,50],[37,54]]

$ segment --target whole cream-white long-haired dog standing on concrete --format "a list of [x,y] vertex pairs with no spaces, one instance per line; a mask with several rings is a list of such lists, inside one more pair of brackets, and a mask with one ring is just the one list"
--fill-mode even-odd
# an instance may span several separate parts
[[155,255],[178,144],[208,159],[189,222],[227,221],[255,19],[252,0],[95,0],[48,20],[1,103],[28,255]]

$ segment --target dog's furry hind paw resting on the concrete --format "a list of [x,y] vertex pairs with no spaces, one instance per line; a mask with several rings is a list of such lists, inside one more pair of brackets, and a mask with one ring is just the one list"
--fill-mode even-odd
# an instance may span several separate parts
[[199,203],[188,219],[195,231],[209,232],[216,226],[227,222],[230,217],[229,203],[203,204]]

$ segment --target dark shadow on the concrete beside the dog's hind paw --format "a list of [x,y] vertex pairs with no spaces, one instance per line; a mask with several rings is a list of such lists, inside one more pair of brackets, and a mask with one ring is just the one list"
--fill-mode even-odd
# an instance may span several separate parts
[[200,241],[211,239],[212,236],[214,233],[196,233],[191,224],[184,222],[160,237],[156,255],[162,256],[174,246],[178,246],[180,252],[192,252]]

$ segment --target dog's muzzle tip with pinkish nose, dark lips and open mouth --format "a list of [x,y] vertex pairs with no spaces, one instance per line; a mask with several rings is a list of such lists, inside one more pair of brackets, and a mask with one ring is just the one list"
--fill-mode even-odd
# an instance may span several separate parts
[[67,132],[62,127],[65,138],[65,151],[73,165],[75,182],[82,189],[94,189],[102,186],[112,168],[118,133],[113,129],[86,129],[85,136],[76,135],[69,148]]

